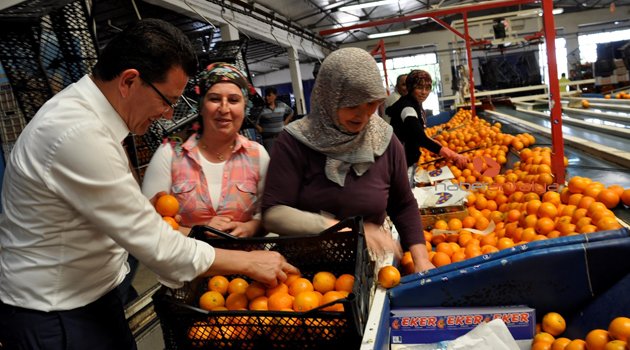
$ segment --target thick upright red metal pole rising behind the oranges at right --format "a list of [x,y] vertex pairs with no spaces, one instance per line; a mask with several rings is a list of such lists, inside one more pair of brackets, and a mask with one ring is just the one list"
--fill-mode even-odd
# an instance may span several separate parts
[[558,84],[558,66],[556,64],[556,26],[553,20],[553,0],[543,0],[543,23],[545,44],[547,46],[547,65],[549,69],[549,110],[551,111],[551,170],[556,183],[564,185],[564,139],[562,138],[562,105],[560,103],[560,85]]

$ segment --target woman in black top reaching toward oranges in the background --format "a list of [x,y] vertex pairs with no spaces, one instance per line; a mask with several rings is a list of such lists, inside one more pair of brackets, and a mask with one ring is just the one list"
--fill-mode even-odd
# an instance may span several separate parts
[[433,88],[431,75],[423,70],[412,70],[405,81],[407,95],[401,97],[396,103],[385,111],[391,119],[394,134],[405,147],[407,166],[414,166],[420,158],[420,147],[439,154],[451,160],[458,168],[468,163],[468,158],[442,146],[437,141],[427,136],[425,127],[427,123],[426,112],[422,108],[424,102]]

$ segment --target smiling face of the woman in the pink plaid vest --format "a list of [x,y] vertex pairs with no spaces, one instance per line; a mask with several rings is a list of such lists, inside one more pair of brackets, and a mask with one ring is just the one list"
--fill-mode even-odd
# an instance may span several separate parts
[[236,135],[245,117],[243,92],[230,82],[212,85],[203,98],[201,115],[204,133]]

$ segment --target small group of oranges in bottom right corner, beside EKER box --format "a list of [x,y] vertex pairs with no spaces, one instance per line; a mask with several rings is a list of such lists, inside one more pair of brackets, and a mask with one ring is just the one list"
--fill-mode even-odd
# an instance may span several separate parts
[[616,317],[608,329],[593,329],[585,339],[559,337],[566,329],[564,318],[556,313],[546,314],[537,325],[532,350],[627,350],[630,340],[630,318]]

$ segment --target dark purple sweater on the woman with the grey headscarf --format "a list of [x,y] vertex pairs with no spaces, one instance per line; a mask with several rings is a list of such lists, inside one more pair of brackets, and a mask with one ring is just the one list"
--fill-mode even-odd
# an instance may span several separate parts
[[424,243],[418,203],[407,178],[405,152],[392,137],[382,156],[357,176],[350,170],[344,187],[326,178],[326,156],[312,150],[283,131],[273,144],[262,199],[263,213],[286,205],[312,213],[322,211],[337,219],[363,216],[381,225],[389,214],[402,246]]

